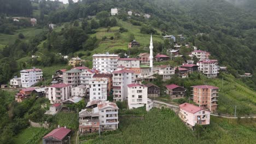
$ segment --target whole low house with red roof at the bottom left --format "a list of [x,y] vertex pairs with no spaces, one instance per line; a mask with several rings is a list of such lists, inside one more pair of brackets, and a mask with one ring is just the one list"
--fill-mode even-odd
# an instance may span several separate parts
[[54,129],[49,134],[43,137],[43,144],[51,143],[70,143],[71,140],[71,129],[61,127]]

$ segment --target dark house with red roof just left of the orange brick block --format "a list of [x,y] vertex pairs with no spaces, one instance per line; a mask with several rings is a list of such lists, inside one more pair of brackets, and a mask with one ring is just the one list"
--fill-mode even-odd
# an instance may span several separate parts
[[184,98],[187,89],[175,84],[166,86],[166,94],[170,95],[171,99]]

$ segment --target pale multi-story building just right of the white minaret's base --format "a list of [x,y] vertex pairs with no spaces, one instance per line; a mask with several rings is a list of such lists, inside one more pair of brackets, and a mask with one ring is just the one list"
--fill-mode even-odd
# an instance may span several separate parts
[[158,75],[162,76],[162,80],[166,81],[171,79],[172,75],[175,74],[175,69],[171,65],[159,65],[158,66]]

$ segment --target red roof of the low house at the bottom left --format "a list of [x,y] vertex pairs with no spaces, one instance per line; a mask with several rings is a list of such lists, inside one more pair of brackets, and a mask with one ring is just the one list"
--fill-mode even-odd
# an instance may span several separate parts
[[70,129],[65,129],[64,127],[57,128],[51,131],[49,134],[45,135],[43,139],[49,136],[53,136],[58,140],[62,140],[64,137],[68,135],[68,133],[70,133],[70,131],[71,131]]

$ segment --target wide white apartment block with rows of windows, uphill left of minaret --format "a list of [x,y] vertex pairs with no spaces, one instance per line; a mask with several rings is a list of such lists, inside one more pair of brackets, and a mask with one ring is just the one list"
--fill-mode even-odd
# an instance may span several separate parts
[[92,56],[93,69],[99,70],[101,73],[111,74],[117,70],[119,55],[94,54]]

